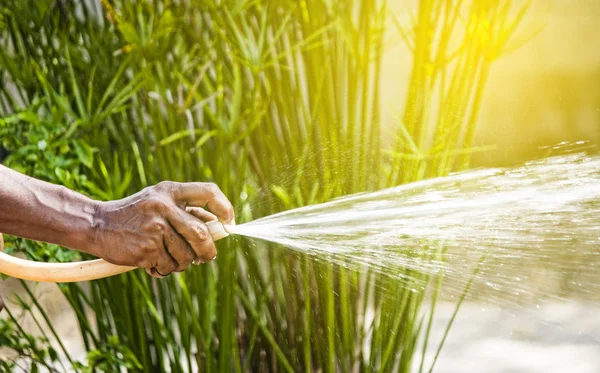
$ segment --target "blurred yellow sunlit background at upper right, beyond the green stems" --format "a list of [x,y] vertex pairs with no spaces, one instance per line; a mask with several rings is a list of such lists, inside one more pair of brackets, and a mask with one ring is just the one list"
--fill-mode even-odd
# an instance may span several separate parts
[[[531,5],[523,22],[531,39],[492,67],[476,144],[495,145],[496,150],[473,154],[475,167],[518,164],[546,155],[544,147],[561,142],[600,141],[600,2],[547,0]],[[417,7],[418,1],[390,2],[406,21]],[[412,55],[400,42],[388,49],[383,61],[384,112],[393,121],[390,108],[406,98],[403,82],[410,76]]]

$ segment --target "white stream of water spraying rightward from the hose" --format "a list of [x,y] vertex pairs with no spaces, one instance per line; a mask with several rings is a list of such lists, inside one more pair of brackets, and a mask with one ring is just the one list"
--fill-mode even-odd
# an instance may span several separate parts
[[413,287],[427,286],[417,274],[443,274],[503,302],[567,293],[587,299],[600,294],[600,156],[557,156],[351,195],[231,233]]

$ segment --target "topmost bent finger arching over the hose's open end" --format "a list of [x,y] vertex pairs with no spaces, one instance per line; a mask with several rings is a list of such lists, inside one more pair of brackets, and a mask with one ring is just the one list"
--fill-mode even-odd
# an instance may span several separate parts
[[213,183],[181,183],[177,184],[172,192],[178,202],[199,207],[208,206],[222,222],[232,224],[234,221],[231,202]]

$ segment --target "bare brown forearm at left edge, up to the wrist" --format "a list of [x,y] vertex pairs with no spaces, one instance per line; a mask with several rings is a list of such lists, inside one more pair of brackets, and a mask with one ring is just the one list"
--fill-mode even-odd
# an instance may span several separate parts
[[0,165],[0,232],[91,252],[98,203]]

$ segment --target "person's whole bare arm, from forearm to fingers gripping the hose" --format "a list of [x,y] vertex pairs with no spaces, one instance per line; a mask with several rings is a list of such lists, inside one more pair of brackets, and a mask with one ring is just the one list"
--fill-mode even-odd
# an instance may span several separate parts
[[0,232],[145,268],[157,277],[216,255],[201,220],[211,215],[188,206],[208,206],[227,224],[234,219],[233,207],[211,183],[162,182],[121,200],[98,202],[0,165]]

